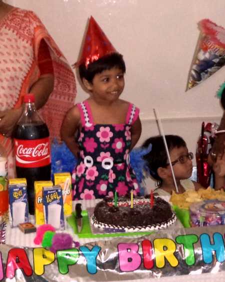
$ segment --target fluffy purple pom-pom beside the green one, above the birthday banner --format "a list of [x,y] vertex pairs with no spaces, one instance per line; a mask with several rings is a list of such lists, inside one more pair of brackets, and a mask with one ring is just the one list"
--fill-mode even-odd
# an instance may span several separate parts
[[72,237],[67,233],[55,233],[52,238],[50,251],[56,253],[60,249],[70,249],[72,247]]

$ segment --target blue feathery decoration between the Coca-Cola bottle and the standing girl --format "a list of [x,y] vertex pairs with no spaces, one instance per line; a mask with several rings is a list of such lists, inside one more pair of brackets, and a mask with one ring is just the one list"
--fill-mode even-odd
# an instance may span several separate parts
[[64,142],[58,143],[56,139],[51,144],[51,177],[58,172],[70,172],[77,164],[77,159],[70,152]]

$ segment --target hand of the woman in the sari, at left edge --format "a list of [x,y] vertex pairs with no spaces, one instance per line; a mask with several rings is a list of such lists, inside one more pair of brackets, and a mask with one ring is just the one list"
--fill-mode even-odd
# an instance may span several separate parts
[[22,108],[0,111],[0,134],[10,137],[21,113]]

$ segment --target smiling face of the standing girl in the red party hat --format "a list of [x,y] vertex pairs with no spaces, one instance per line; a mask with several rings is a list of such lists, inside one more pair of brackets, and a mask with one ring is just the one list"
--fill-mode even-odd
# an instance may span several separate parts
[[96,74],[92,83],[84,84],[97,101],[113,102],[119,98],[124,89],[124,74],[118,68],[105,70]]

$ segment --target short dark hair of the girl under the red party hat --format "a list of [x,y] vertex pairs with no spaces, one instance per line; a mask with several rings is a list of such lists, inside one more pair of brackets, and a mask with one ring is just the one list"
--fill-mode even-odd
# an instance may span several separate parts
[[106,55],[90,63],[86,69],[85,65],[79,66],[79,77],[82,81],[85,78],[88,82],[92,83],[92,80],[96,74],[99,74],[105,70],[110,70],[112,68],[118,68],[123,73],[126,72],[125,63],[123,61],[122,55],[119,53],[112,53]]

